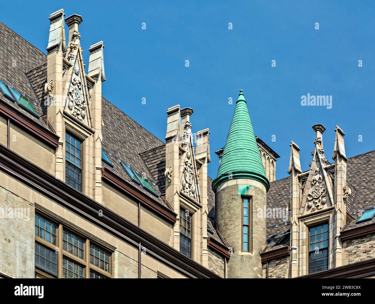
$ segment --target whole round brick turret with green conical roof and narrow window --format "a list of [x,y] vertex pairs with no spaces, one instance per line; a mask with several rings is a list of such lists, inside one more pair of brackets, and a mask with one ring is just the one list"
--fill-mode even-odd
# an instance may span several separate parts
[[263,277],[266,194],[270,187],[242,90],[221,155],[216,193],[217,228],[232,247],[228,278]]

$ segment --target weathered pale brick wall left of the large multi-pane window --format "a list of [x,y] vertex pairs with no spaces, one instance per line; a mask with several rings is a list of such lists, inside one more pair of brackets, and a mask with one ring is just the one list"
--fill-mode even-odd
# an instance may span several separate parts
[[[24,218],[4,218],[10,208],[26,208]],[[0,273],[16,278],[34,277],[34,214],[33,204],[0,188]]]

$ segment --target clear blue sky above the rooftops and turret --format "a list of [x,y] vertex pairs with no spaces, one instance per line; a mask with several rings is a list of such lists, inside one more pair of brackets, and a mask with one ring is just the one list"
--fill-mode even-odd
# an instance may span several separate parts
[[[1,1],[1,22],[44,52],[49,14],[81,15],[86,63],[89,46],[105,44],[103,96],[160,139],[166,109],[192,107],[193,132],[210,128],[213,178],[214,151],[225,145],[240,89],[255,134],[281,156],[277,179],[288,175],[291,140],[308,170],[316,123],[327,128],[329,160],[336,125],[346,133],[347,156],[375,149],[374,1],[17,2]],[[332,95],[332,109],[301,106],[308,93]]]

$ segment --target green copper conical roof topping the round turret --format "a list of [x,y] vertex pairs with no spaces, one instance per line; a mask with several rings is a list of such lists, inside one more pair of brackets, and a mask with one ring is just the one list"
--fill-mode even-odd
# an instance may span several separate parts
[[212,189],[215,191],[222,182],[238,178],[258,180],[264,184],[267,191],[270,188],[242,90],[240,90],[236,109],[234,109],[231,127]]

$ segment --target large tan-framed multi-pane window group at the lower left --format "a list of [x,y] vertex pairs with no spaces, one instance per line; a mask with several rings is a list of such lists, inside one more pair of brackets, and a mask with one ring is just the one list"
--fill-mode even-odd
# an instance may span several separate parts
[[[111,252],[47,216],[35,214],[35,276],[38,278],[111,278]],[[62,244],[57,250],[56,244]],[[93,255],[86,254],[86,248]],[[90,263],[93,261],[93,263]],[[60,270],[59,270],[60,269]]]

